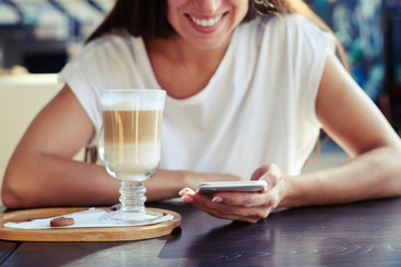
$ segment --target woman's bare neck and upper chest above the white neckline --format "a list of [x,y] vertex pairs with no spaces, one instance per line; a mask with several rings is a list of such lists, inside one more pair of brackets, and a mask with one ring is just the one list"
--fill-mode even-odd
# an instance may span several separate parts
[[157,81],[177,99],[203,90],[217,70],[228,41],[216,49],[198,49],[179,38],[145,40]]

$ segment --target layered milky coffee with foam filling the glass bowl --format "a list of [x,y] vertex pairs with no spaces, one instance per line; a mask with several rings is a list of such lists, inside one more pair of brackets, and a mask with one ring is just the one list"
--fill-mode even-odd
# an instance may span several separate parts
[[158,167],[163,109],[128,101],[102,107],[107,168],[125,181],[144,180]]

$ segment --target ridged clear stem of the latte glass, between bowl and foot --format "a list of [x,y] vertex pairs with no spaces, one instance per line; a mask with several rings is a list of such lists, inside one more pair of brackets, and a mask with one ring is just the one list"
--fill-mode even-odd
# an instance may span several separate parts
[[121,209],[124,212],[141,212],[145,214],[145,192],[144,182],[121,181],[119,189]]

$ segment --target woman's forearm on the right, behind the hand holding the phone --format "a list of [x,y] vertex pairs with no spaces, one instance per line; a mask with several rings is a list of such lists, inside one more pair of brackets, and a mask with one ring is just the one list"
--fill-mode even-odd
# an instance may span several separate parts
[[330,205],[401,195],[401,157],[379,148],[329,169],[285,177],[280,207]]

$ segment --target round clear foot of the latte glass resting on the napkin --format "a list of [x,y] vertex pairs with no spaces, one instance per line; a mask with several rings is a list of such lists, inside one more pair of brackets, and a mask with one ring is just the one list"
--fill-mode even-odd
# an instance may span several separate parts
[[108,211],[105,215],[105,219],[115,224],[129,224],[129,225],[143,225],[151,222],[162,218],[164,215],[158,211],[147,210],[141,211],[124,211],[121,209]]

